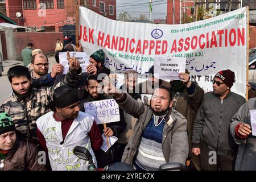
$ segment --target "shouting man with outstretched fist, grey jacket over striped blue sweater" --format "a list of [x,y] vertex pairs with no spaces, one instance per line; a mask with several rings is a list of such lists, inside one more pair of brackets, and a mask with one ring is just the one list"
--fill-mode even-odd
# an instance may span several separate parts
[[161,164],[177,162],[185,165],[188,157],[187,120],[172,109],[169,88],[159,86],[152,94],[150,106],[135,101],[115,88],[108,80],[99,92],[111,93],[118,105],[138,118],[133,137],[123,152],[122,162],[137,170],[158,170]]

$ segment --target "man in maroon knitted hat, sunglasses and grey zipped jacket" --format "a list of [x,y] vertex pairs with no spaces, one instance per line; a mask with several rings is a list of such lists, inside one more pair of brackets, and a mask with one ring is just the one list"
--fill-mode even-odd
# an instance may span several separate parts
[[192,152],[200,155],[201,169],[233,170],[237,146],[229,133],[231,118],[245,103],[245,98],[231,92],[234,72],[218,72],[213,80],[213,92],[204,94],[197,111],[192,134]]

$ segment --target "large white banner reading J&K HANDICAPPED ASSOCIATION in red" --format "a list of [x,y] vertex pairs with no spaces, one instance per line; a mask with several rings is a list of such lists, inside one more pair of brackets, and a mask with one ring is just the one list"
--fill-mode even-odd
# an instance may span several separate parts
[[185,57],[191,80],[212,91],[214,75],[236,74],[232,91],[246,95],[246,8],[187,24],[121,22],[80,7],[79,40],[91,55],[103,49],[105,65],[115,72],[146,73],[154,56]]

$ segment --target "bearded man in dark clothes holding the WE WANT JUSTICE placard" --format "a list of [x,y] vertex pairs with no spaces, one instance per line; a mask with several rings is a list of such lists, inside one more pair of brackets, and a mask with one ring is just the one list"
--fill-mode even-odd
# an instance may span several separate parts
[[[97,121],[99,122],[98,127],[104,133],[105,137],[108,137],[108,139],[113,136],[118,138],[126,126],[126,123],[124,122],[124,119],[123,119],[123,111],[118,108],[113,109],[114,103],[107,101],[107,100],[111,99],[112,96],[104,96],[104,94],[99,94],[97,92],[97,87],[98,87],[97,76],[90,75],[87,78],[87,83],[86,83],[86,87],[85,87],[86,91],[88,92],[88,98],[86,98],[85,100],[82,100],[80,102],[81,111],[85,111],[85,113],[90,113],[90,111],[92,111],[93,107],[94,108],[106,107],[105,110],[102,110],[102,111],[98,110],[97,114],[95,114],[95,112],[93,111],[92,115],[95,115],[94,118],[96,118]],[[93,104],[94,101],[96,101],[96,102]],[[102,101],[102,102],[98,103],[97,101]],[[106,101],[106,102],[104,102],[104,101]],[[110,103],[111,105],[108,103]],[[112,109],[112,111],[108,110],[109,107],[107,105],[112,107],[112,108],[110,108],[110,109]],[[120,117],[117,119],[118,122],[110,122],[110,119],[114,118],[113,113],[116,115],[117,112],[120,115]],[[102,115],[104,115],[104,117],[102,117]],[[110,116],[108,117],[108,115],[110,115]],[[104,119],[104,122],[106,122],[106,127],[104,127],[102,125],[103,123],[101,121],[101,118]],[[99,119],[100,119],[100,121],[99,121]],[[114,121],[116,121],[116,120],[114,120]],[[110,122],[110,123],[107,123],[107,122]],[[103,150],[98,151],[96,153],[98,167],[100,167],[100,168],[105,167],[107,164],[113,163],[114,154],[115,154],[115,145],[110,146],[110,148],[106,152],[104,152]]]

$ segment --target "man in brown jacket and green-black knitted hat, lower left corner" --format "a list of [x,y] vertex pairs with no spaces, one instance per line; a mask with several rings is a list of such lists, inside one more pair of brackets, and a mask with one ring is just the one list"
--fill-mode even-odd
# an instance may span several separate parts
[[39,164],[36,145],[16,137],[14,122],[5,112],[0,112],[0,159],[0,171],[46,170]]

